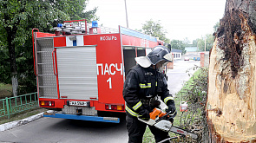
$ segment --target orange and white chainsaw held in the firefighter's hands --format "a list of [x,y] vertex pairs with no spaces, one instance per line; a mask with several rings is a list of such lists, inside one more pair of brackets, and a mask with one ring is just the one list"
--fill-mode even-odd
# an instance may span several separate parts
[[171,114],[171,112],[165,113],[163,110],[155,107],[153,112],[149,114],[149,120],[143,120],[141,118],[138,118],[138,120],[141,120],[150,126],[159,128],[165,132],[178,133],[182,136],[191,137],[194,140],[198,139],[198,135],[196,133],[192,133],[180,127],[173,126],[173,123],[170,120],[174,119],[175,115],[176,112],[174,114]]

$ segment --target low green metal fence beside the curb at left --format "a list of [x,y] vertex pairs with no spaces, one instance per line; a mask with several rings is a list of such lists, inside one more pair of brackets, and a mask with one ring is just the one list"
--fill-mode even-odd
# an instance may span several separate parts
[[0,100],[0,118],[18,114],[38,106],[37,93],[23,94]]

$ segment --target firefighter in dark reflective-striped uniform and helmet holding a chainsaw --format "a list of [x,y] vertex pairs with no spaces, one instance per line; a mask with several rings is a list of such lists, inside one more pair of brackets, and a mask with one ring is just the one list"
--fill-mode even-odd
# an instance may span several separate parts
[[[167,104],[167,112],[176,111],[174,98],[167,89],[167,80],[162,73],[167,62],[172,62],[170,49],[158,45],[147,56],[136,57],[138,63],[131,68],[123,86],[123,98],[126,101],[126,120],[128,142],[141,143],[147,124],[138,120],[149,120],[149,113],[159,105],[155,99],[161,98]],[[168,133],[148,126],[156,142],[165,140]]]

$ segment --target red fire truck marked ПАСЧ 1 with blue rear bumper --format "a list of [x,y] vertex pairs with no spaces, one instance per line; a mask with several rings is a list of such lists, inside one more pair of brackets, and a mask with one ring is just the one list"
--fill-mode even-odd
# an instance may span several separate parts
[[135,57],[162,44],[153,36],[86,20],[65,21],[56,34],[32,30],[34,69],[45,117],[118,123],[125,113],[123,82]]

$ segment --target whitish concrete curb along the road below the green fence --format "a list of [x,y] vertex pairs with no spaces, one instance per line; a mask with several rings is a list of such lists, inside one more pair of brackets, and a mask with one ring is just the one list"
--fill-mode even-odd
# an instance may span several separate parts
[[15,121],[11,121],[11,122],[2,124],[2,125],[0,125],[0,132],[9,130],[9,129],[14,128],[14,127],[19,127],[21,125],[27,124],[27,123],[29,123],[33,120],[37,120],[37,119],[42,118],[42,117],[43,117],[43,113],[40,113],[40,114],[32,115],[32,116],[30,116],[28,118],[25,118],[23,120],[15,120]]

